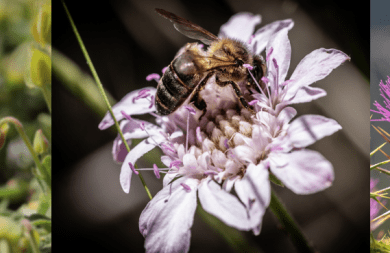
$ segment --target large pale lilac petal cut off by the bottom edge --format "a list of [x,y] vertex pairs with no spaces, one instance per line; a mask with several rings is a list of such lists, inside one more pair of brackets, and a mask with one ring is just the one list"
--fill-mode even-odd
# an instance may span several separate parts
[[[165,186],[147,204],[139,220],[146,252],[188,252],[198,182],[196,179],[178,179]],[[186,191],[181,183],[191,190]]]

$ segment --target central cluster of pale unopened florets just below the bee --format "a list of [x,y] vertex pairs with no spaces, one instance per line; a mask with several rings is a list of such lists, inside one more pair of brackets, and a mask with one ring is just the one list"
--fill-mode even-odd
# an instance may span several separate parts
[[215,109],[202,118],[195,131],[190,130],[194,138],[188,149],[184,144],[173,145],[178,160],[170,167],[197,178],[223,171],[222,179],[242,176],[249,163],[258,164],[267,157],[266,147],[272,141],[268,130],[245,108]]

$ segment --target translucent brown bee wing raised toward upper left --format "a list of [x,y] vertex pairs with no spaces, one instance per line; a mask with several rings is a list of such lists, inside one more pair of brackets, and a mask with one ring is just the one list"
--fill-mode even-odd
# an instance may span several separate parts
[[188,21],[187,19],[181,18],[163,9],[156,9],[156,12],[173,22],[173,26],[176,30],[191,39],[200,40],[207,45],[210,45],[213,41],[219,40],[219,38],[211,32],[192,23],[191,21]]

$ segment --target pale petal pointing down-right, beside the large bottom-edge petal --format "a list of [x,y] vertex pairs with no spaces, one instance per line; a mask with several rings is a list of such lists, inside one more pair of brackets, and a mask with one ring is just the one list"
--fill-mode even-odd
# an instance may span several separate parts
[[204,180],[199,186],[198,193],[200,203],[206,212],[236,229],[246,231],[252,229],[245,207],[213,180]]

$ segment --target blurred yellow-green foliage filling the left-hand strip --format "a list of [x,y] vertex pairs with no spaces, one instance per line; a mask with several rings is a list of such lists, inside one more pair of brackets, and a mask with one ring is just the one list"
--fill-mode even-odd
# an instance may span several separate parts
[[0,126],[0,252],[51,252],[50,91],[51,1],[0,0],[0,121],[20,121],[41,164]]

